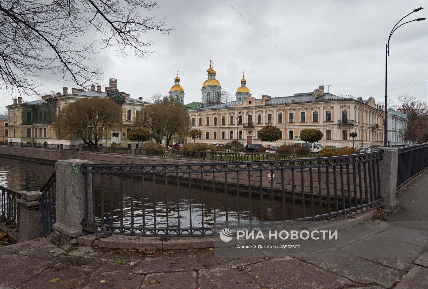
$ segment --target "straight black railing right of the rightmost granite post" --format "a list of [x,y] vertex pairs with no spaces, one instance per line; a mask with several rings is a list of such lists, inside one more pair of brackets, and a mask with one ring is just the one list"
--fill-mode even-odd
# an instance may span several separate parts
[[428,168],[428,144],[398,148],[397,190]]

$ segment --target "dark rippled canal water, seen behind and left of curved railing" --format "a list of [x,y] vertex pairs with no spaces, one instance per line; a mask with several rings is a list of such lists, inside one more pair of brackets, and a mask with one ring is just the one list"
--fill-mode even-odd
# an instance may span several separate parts
[[[0,156],[0,185],[16,191],[40,190],[49,179],[55,165]],[[204,227],[222,221],[281,221],[282,197],[260,193],[250,195],[242,191],[239,196],[232,188],[226,192],[222,187],[201,186],[185,180],[151,176],[142,179],[139,175],[112,176],[103,180],[97,176],[95,188],[95,220],[107,223],[113,215],[114,225],[133,227]],[[224,186],[224,184],[223,184]],[[122,188],[122,189],[121,189]],[[132,188],[132,190],[131,190]],[[122,193],[121,193],[122,192]],[[238,206],[239,200],[239,206]],[[292,218],[292,202],[285,198],[285,218]],[[315,212],[318,212],[315,200]],[[300,204],[300,205],[299,205]],[[250,210],[251,207],[251,210]],[[296,199],[296,218],[301,217],[301,201]],[[310,212],[310,203],[305,205]],[[274,216],[272,215],[274,212]],[[121,217],[123,216],[123,217]]]

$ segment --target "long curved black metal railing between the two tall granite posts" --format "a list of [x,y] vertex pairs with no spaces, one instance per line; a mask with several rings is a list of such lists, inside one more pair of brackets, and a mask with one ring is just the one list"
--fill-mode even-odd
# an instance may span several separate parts
[[84,230],[207,236],[278,228],[378,207],[380,151],[262,162],[83,164]]

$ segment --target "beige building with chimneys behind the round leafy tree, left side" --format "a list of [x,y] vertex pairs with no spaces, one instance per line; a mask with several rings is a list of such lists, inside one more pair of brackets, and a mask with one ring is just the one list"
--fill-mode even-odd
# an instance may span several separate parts
[[101,86],[93,85],[91,90],[84,91],[72,88],[71,93],[64,87],[62,93],[55,96],[45,95],[41,100],[23,102],[21,97],[6,106],[9,111],[9,142],[36,142],[48,144],[77,145],[83,144],[82,139],[59,139],[55,129],[55,118],[68,103],[90,97],[105,97],[114,100],[122,109],[122,125],[104,131],[98,144],[110,146],[111,142],[122,143],[123,147],[136,147],[136,142],[128,140],[128,132],[134,126],[134,121],[142,113],[144,102],[142,97],[131,98],[129,94],[117,89],[117,80],[110,79],[110,86],[101,91]]

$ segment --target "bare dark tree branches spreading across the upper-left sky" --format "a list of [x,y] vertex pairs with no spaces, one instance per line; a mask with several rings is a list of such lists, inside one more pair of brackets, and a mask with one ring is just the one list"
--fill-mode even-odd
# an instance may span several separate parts
[[172,32],[166,18],[139,13],[156,8],[150,0],[1,0],[0,89],[39,95],[32,78],[45,72],[81,87],[101,83],[101,69],[91,64],[100,44],[145,57],[153,42],[143,33]]

